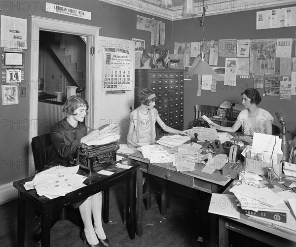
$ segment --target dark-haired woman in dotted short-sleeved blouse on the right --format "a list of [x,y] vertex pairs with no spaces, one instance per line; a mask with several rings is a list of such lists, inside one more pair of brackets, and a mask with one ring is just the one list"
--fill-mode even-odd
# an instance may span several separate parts
[[261,97],[257,89],[248,88],[242,94],[245,109],[242,110],[232,127],[222,127],[218,124],[210,124],[211,128],[227,132],[236,132],[242,126],[245,135],[253,136],[254,133],[272,135],[272,123],[274,118],[271,114],[258,105]]

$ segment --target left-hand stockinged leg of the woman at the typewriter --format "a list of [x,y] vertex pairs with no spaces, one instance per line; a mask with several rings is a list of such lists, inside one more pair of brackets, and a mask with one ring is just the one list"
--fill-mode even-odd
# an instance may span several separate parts
[[86,240],[90,245],[99,244],[99,240],[96,236],[93,224],[92,224],[92,196],[87,198],[79,207],[80,215],[84,224],[84,233]]

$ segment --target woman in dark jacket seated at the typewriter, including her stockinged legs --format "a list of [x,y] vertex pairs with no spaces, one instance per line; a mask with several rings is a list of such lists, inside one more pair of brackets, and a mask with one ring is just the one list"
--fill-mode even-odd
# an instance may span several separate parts
[[[87,134],[87,127],[82,123],[87,114],[87,109],[87,101],[80,96],[71,96],[66,100],[63,112],[67,113],[67,117],[50,128],[50,137],[55,148],[51,150],[44,169],[58,165],[71,166],[70,161],[74,159],[77,153],[77,146],[81,142],[94,139],[100,135],[99,130]],[[109,247],[109,240],[102,226],[102,192],[81,201],[79,212],[84,224],[84,231],[81,234],[83,241],[90,247],[101,245]]]

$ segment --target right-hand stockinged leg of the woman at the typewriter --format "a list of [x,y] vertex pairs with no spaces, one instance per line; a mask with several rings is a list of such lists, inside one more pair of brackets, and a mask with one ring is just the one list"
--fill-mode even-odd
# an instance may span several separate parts
[[94,218],[94,228],[98,238],[106,239],[102,225],[102,192],[92,195],[91,210]]

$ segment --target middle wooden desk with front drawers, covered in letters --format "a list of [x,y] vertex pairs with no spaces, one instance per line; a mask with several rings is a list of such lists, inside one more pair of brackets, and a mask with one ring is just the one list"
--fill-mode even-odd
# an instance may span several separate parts
[[[128,155],[128,158],[140,165],[137,175],[137,223],[136,233],[141,236],[143,233],[142,218],[143,212],[141,204],[143,199],[143,173],[148,175],[160,177],[164,179],[161,191],[161,214],[166,212],[167,198],[166,198],[166,182],[172,181],[186,187],[204,191],[206,193],[220,193],[225,189],[225,186],[230,183],[231,178],[222,176],[221,171],[215,171],[212,175],[201,172],[204,165],[196,164],[195,171],[179,173],[172,163],[157,163],[151,164],[149,160],[144,158],[141,152],[135,152]],[[217,236],[217,215],[211,215],[211,246],[216,245]]]

